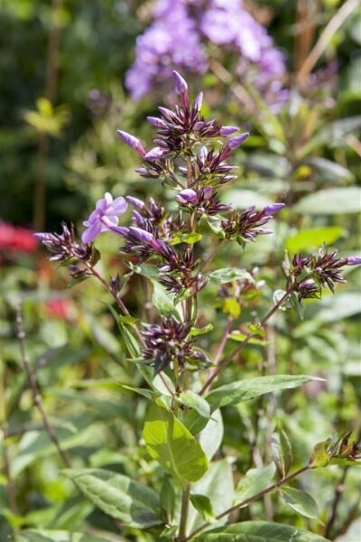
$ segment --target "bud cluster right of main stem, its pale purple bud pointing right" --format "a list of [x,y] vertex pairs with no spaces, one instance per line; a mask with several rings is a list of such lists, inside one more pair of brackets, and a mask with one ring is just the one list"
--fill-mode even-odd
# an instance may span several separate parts
[[235,239],[239,243],[255,241],[258,235],[273,233],[272,229],[264,229],[264,224],[272,220],[273,214],[284,207],[284,203],[267,205],[263,210],[255,210],[255,205],[242,213],[234,211],[222,227],[227,239]]

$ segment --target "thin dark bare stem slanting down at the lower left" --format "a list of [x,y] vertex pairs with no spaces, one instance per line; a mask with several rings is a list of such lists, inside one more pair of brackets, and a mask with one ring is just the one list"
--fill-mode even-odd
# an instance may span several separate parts
[[25,350],[25,332],[23,331],[23,315],[22,315],[22,305],[19,304],[19,306],[16,309],[16,326],[17,326],[17,337],[19,339],[20,343],[20,351],[23,361],[23,367],[26,371],[26,374],[29,378],[30,388],[32,390],[32,399],[34,402],[34,405],[38,409],[40,416],[42,417],[42,424],[45,427],[45,430],[47,431],[48,435],[51,438],[51,441],[53,444],[55,444],[60,457],[62,461],[67,465],[67,467],[71,468],[71,463],[69,460],[68,453],[65,452],[65,450],[62,449],[59,439],[57,435],[55,434],[54,428],[51,425],[51,422],[49,421],[48,417],[45,414],[45,411],[42,407],[42,396],[40,394],[40,389],[38,387],[38,383],[36,381],[35,373],[32,370],[32,367],[30,365],[30,361],[28,358],[28,355]]

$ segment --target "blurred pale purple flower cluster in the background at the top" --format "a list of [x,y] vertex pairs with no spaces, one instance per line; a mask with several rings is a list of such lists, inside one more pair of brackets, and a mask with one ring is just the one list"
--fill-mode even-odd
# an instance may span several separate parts
[[153,18],[153,24],[137,38],[135,62],[126,74],[132,98],[164,86],[172,67],[188,75],[203,75],[208,69],[209,45],[217,45],[236,54],[236,74],[258,89],[270,105],[277,107],[284,100],[283,54],[242,0],[158,0]]

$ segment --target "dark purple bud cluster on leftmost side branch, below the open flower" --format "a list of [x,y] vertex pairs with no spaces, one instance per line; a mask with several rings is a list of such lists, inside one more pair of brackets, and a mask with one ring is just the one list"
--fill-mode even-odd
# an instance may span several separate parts
[[68,264],[70,275],[73,278],[85,278],[92,275],[91,267],[97,264],[100,254],[97,248],[91,245],[79,244],[75,238],[74,226],[70,229],[65,222],[61,222],[62,233],[34,233],[42,244],[48,248],[53,261]]

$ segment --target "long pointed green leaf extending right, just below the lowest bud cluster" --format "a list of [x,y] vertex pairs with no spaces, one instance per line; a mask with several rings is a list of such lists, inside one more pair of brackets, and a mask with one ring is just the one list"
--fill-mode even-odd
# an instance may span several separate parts
[[221,406],[237,405],[243,401],[262,396],[265,393],[286,388],[298,388],[303,384],[307,384],[310,380],[319,380],[319,378],[305,375],[276,375],[274,377],[247,378],[214,389],[208,393],[206,399],[211,406],[211,411],[213,411]]

